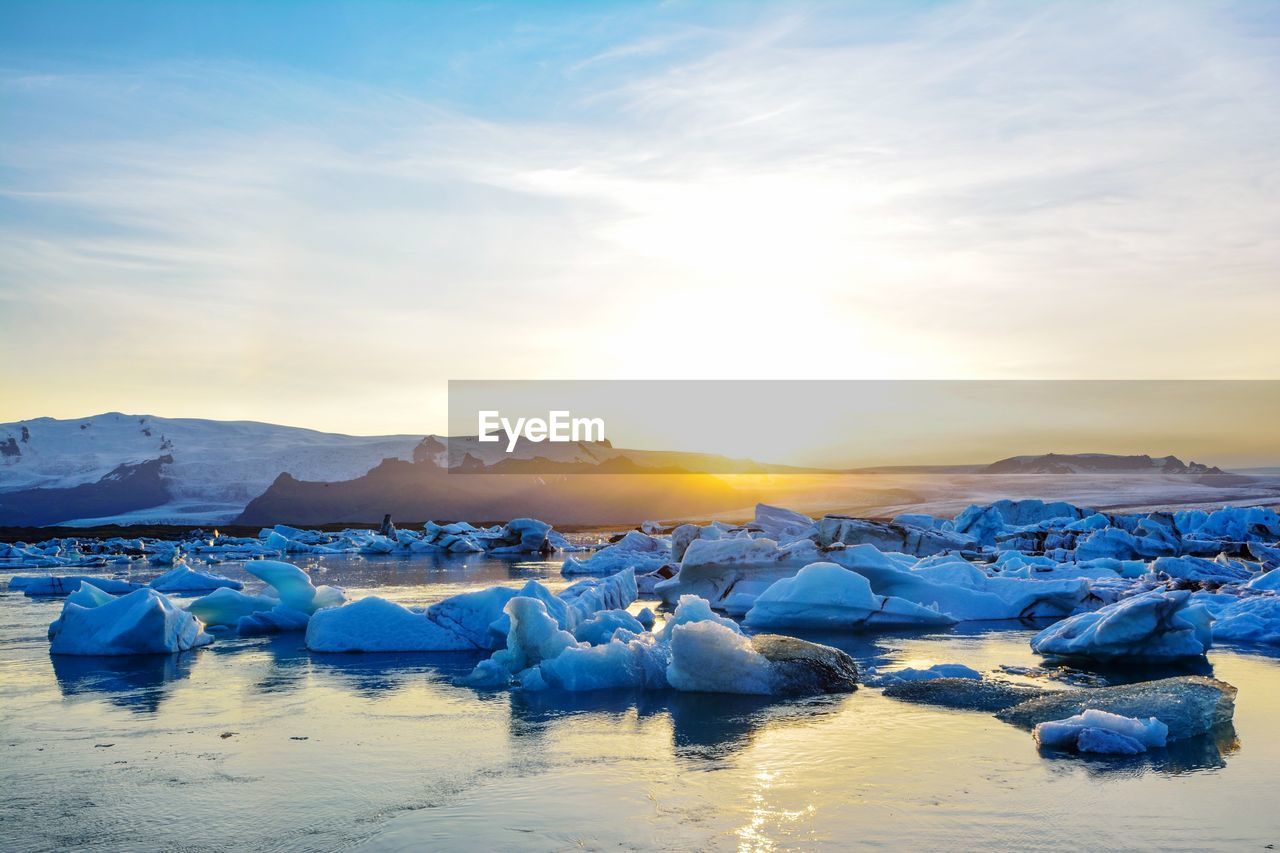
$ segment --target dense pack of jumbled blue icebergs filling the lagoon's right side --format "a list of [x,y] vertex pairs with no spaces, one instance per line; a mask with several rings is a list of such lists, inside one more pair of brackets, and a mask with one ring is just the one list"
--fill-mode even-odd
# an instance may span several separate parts
[[1120,514],[1029,500],[876,521],[760,505],[742,525],[632,530],[563,571],[632,569],[666,605],[695,594],[753,628],[1057,619],[1037,651],[1170,660],[1215,638],[1280,642],[1277,540],[1280,516],[1265,507]]

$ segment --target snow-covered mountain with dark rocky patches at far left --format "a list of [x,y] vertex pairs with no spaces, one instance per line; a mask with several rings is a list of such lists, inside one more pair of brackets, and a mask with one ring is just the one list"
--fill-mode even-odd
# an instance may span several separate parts
[[0,524],[216,524],[283,473],[348,480],[421,442],[120,412],[0,424]]

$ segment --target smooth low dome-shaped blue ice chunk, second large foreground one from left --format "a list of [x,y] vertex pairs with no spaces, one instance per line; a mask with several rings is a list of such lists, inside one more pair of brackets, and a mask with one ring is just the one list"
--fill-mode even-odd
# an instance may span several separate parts
[[460,634],[408,607],[370,596],[317,611],[307,622],[314,652],[452,652],[475,649]]

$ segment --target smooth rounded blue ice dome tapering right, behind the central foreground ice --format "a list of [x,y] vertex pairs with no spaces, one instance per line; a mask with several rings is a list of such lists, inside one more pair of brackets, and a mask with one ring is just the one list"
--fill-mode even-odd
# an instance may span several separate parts
[[883,598],[859,574],[814,562],[760,593],[746,613],[751,628],[849,629],[860,625],[952,625],[955,620],[904,598]]

